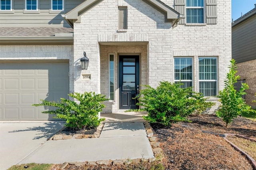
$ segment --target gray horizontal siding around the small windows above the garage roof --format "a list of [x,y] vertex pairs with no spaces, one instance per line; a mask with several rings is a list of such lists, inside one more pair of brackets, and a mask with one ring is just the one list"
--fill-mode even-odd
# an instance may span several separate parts
[[51,0],[38,0],[40,13],[24,13],[25,1],[14,0],[14,13],[0,13],[0,27],[70,27],[61,14],[84,0],[64,0],[64,12],[51,12]]

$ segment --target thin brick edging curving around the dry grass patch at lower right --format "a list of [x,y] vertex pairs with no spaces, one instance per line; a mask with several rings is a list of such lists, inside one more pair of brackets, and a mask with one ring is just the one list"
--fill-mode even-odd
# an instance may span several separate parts
[[255,140],[255,139],[252,139],[252,138],[248,138],[248,137],[242,136],[242,135],[236,135],[236,134],[231,134],[231,133],[226,133],[226,134],[224,134],[224,135],[225,135],[225,137],[223,137],[223,139],[224,139],[225,141],[227,141],[228,143],[230,143],[230,145],[231,145],[234,149],[238,150],[238,151],[241,152],[243,155],[245,155],[246,158],[247,158],[248,160],[250,160],[250,162],[251,162],[253,168],[256,170],[256,161],[255,161],[250,155],[248,155],[246,152],[244,152],[244,150],[240,149],[240,148],[239,148],[238,146],[236,146],[234,143],[232,143],[231,141],[229,141],[226,137],[228,137],[228,136],[237,136],[237,137],[242,137],[242,138],[244,138],[244,139],[248,139],[248,140],[251,140],[251,141],[254,141],[254,142],[256,142],[256,140]]

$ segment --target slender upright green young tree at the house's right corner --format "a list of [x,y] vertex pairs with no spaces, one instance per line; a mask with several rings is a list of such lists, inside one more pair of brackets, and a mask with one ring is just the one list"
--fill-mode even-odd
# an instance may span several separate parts
[[242,87],[237,92],[234,83],[240,79],[240,76],[236,76],[237,73],[237,66],[236,61],[232,59],[230,61],[229,72],[227,74],[225,82],[225,86],[223,90],[219,92],[220,98],[220,109],[216,111],[216,115],[221,117],[222,120],[226,123],[226,127],[232,123],[233,119],[236,118],[238,115],[241,115],[243,112],[251,111],[251,107],[248,106],[242,95],[245,95],[244,92],[249,86],[246,83],[242,83]]

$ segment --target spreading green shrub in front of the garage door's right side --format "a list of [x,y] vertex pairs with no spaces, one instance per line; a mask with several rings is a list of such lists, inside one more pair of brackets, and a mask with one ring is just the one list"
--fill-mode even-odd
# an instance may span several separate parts
[[33,104],[33,106],[57,107],[53,110],[42,111],[42,113],[56,114],[54,118],[66,120],[66,127],[85,129],[97,127],[101,121],[104,121],[104,119],[98,118],[98,113],[105,107],[101,102],[108,100],[105,96],[94,92],[74,93],[68,94],[68,96],[78,102],[61,98],[60,102],[41,100],[41,104]]

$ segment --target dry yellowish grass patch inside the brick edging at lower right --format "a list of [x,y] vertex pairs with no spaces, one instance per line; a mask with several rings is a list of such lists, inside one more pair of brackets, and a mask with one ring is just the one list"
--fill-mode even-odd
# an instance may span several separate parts
[[236,136],[228,136],[227,139],[256,160],[256,142]]

